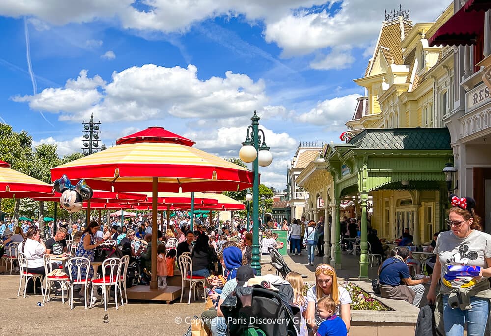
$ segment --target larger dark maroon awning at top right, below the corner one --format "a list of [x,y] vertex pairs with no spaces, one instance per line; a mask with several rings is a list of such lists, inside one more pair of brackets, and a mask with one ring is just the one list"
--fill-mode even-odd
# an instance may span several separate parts
[[428,40],[433,46],[458,46],[475,44],[484,32],[484,12],[466,12],[465,6],[445,22]]

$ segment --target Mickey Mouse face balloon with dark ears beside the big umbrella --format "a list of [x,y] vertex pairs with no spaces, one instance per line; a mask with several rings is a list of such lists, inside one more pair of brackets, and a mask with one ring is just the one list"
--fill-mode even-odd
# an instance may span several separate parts
[[59,180],[53,183],[56,192],[61,193],[60,205],[66,211],[75,213],[82,209],[83,201],[92,198],[94,192],[85,180],[80,180],[76,186],[73,186],[70,179],[63,175]]

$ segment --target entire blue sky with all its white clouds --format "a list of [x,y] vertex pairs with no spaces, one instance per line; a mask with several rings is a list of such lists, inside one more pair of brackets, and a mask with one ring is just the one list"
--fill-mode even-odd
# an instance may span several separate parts
[[[4,0],[0,121],[60,155],[94,113],[107,146],[159,125],[231,157],[256,109],[273,152],[262,182],[283,189],[299,142],[339,141],[363,94],[352,80],[394,6],[367,2]],[[426,2],[408,3],[414,23],[450,3]]]

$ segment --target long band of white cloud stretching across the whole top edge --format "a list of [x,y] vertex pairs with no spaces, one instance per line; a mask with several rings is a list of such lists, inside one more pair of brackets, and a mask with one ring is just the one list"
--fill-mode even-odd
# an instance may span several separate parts
[[[394,8],[392,0],[145,0],[138,2],[138,8],[135,2],[3,0],[0,15],[33,16],[55,25],[112,20],[125,29],[164,33],[184,32],[209,18],[244,15],[252,24],[263,22],[266,41],[276,43],[285,56],[294,56],[342,44],[365,49],[380,29],[384,9]],[[413,0],[411,19],[435,20],[448,2]],[[334,3],[340,3],[340,8],[331,11]]]

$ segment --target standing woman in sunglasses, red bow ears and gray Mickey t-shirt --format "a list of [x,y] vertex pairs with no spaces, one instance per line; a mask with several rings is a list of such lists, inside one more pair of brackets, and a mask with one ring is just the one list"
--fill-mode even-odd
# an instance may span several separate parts
[[[483,286],[489,290],[491,235],[482,232],[481,218],[474,212],[475,201],[472,198],[452,195],[451,204],[452,208],[445,220],[451,230],[440,233],[436,240],[433,253],[437,258],[427,298],[429,302],[435,302],[436,285],[441,279],[442,316],[446,335],[464,335],[465,322],[468,335],[484,335],[486,323],[483,322],[489,317],[489,299],[476,294],[479,296],[469,298],[472,309],[461,310],[459,306],[450,307],[448,298],[450,292],[469,291],[478,284],[479,288]],[[448,271],[452,265],[478,266],[481,270],[479,276],[454,276]]]

